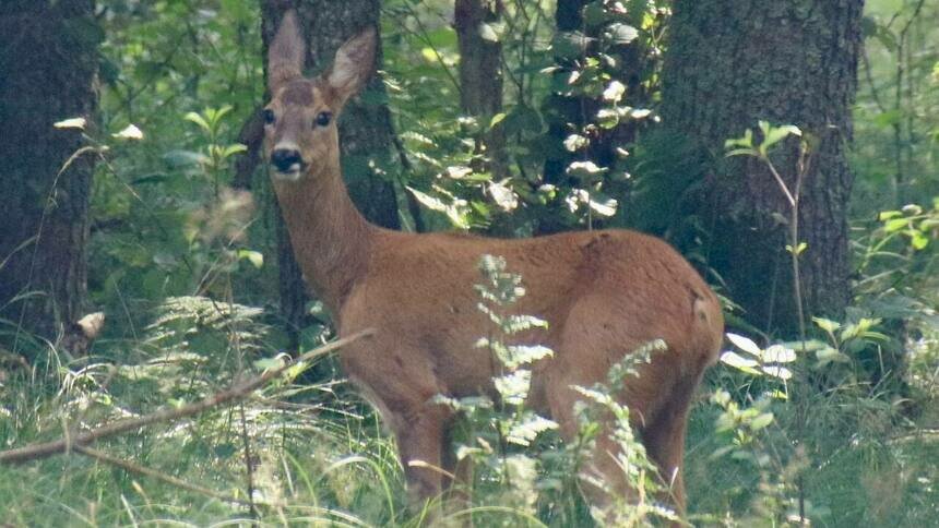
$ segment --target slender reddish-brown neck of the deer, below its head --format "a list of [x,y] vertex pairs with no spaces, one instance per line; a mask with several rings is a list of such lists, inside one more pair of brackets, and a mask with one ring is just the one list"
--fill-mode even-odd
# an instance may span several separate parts
[[337,157],[297,182],[274,183],[304,279],[334,316],[365,275],[379,231],[349,199]]

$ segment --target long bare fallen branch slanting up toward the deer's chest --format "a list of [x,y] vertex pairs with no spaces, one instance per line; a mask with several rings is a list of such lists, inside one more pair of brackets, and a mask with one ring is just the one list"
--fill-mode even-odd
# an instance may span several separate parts
[[246,382],[235,384],[225,391],[215,393],[214,395],[207,396],[201,401],[197,401],[194,404],[185,405],[176,409],[159,410],[151,415],[142,416],[140,418],[119,420],[114,423],[100,427],[98,429],[85,433],[78,434],[72,437],[62,437],[52,442],[32,444],[24,447],[17,447],[15,449],[0,452],[0,464],[21,464],[38,458],[46,458],[58,453],[64,453],[69,451],[72,446],[91,444],[100,439],[126,433],[128,431],[134,431],[153,423],[173,421],[178,420],[180,418],[199,415],[219,405],[227,404],[229,401],[245,397],[246,395],[263,386],[265,383],[270,382],[274,377],[280,376],[287,369],[295,365],[299,361],[308,361],[318,356],[331,352],[337,348],[342,348],[348,345],[349,343],[369,336],[372,333],[373,331],[371,329],[365,329],[348,337],[337,339],[333,343],[317,348],[316,350],[310,350],[309,352],[300,356],[294,361],[288,361],[287,363],[276,369],[269,370],[263,374]]

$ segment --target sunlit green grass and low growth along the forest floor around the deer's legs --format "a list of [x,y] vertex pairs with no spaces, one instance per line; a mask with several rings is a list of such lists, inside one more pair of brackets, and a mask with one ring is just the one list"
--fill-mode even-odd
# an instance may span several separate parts
[[[198,312],[199,304],[180,312]],[[170,310],[171,312],[173,310]],[[102,340],[95,356],[68,360],[38,344],[29,369],[4,363],[0,385],[3,448],[94,428],[118,418],[193,401],[224,388],[255,360],[273,358],[278,343],[261,313],[176,316],[164,309],[139,340]],[[190,314],[191,315],[191,314]],[[204,314],[203,314],[204,315]],[[194,322],[194,321],[198,321]],[[237,338],[233,338],[237,336]],[[925,349],[924,349],[925,350]],[[935,353],[935,351],[922,353]],[[912,362],[915,395],[935,423],[935,361]],[[187,487],[129,472],[84,454],[69,453],[16,466],[0,465],[0,521],[14,527],[61,526],[428,526],[430,511],[413,512],[395,447],[375,413],[342,381],[307,383],[304,373],[274,382],[233,407],[107,439],[96,449],[186,482]],[[702,395],[729,391],[741,405],[759,394],[757,382],[725,367],[711,371]],[[776,419],[738,446],[754,455],[715,457],[733,436],[715,433],[721,409],[696,406],[687,453],[692,521],[699,526],[782,526],[796,505],[793,469],[804,467],[809,517],[825,527],[922,527],[939,519],[939,435],[876,394],[845,387],[813,396],[803,440],[793,448],[793,406],[774,404]],[[242,423],[241,412],[245,421]],[[478,424],[477,424],[478,425]],[[246,442],[247,437],[247,442]],[[739,443],[739,442],[738,442]],[[246,454],[246,445],[250,454]],[[548,439],[545,475],[563,465]],[[762,464],[754,460],[765,455]],[[250,477],[246,457],[251,461]],[[560,457],[560,458],[559,458]],[[545,469],[547,468],[547,469]],[[485,475],[485,472],[480,472]],[[543,475],[542,477],[545,477]],[[591,526],[572,482],[543,478],[532,517],[507,497],[518,491],[492,479],[477,481],[475,526]],[[563,485],[561,485],[563,484]],[[199,488],[239,501],[253,488],[257,507],[207,496]],[[544,487],[543,487],[544,488]]]

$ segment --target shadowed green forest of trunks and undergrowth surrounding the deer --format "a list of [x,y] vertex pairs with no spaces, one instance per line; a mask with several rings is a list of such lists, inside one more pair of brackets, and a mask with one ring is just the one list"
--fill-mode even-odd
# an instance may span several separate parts
[[[288,362],[334,335],[261,152],[288,5],[310,74],[379,28],[340,120],[369,220],[637,229],[720,295],[690,523],[935,525],[939,4],[924,0],[0,1],[0,523],[429,523],[335,358]],[[476,291],[511,292],[499,273],[483,266]],[[452,405],[476,469],[471,509],[449,515],[594,523],[578,446],[547,425],[507,436],[531,423],[522,405]],[[650,494],[618,518],[661,523],[630,456]]]

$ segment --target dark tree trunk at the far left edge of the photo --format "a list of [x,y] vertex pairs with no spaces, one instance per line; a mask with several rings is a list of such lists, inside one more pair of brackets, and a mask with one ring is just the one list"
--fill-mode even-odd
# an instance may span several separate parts
[[0,317],[49,338],[85,301],[94,168],[92,153],[70,163],[81,131],[52,123],[92,122],[102,37],[93,0],[0,8]]

